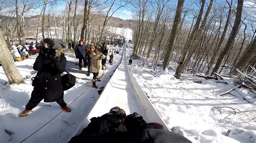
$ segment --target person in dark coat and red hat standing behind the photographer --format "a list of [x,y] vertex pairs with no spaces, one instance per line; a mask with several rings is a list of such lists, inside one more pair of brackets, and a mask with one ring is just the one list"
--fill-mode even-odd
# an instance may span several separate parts
[[[86,68],[88,66],[87,63],[87,47],[83,44],[83,40],[79,40],[79,44],[76,45],[76,58],[79,59],[79,69],[82,70],[82,68]],[[83,63],[84,62],[84,66]]]

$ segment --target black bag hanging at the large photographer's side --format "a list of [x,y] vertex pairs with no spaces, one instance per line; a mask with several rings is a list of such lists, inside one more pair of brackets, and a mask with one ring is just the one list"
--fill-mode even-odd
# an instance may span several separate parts
[[76,76],[73,76],[69,73],[62,76],[63,91],[72,88],[75,84],[76,84]]

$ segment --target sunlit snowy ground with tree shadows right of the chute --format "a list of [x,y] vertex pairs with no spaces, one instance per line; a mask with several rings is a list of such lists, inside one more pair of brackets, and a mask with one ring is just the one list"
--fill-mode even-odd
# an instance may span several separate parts
[[[132,46],[127,44],[126,61],[130,59]],[[169,128],[184,134],[192,142],[256,142],[255,94],[240,88],[231,91],[232,95],[216,96],[234,85],[205,80],[189,73],[177,80],[173,76],[177,67],[174,63],[168,73],[161,71],[160,66],[152,71],[142,68],[142,64],[141,60],[133,60],[130,70]],[[218,106],[253,111],[234,114],[230,108],[219,108],[220,113],[215,108]]]

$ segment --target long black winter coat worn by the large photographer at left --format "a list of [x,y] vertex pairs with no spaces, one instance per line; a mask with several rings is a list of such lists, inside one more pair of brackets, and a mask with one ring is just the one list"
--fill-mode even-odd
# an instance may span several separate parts
[[63,98],[61,75],[66,68],[66,58],[60,55],[58,58],[50,58],[43,52],[39,53],[33,65],[37,70],[37,78],[33,83],[34,91],[43,94],[44,102],[55,102]]

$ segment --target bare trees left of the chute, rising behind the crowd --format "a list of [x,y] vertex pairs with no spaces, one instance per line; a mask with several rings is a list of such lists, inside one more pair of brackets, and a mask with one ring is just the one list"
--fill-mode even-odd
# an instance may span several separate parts
[[[57,12],[59,2],[65,4],[64,11]],[[19,45],[24,45],[28,32],[35,31],[36,41],[44,38],[60,38],[65,45],[76,45],[79,40],[84,40],[85,43],[104,40],[109,34],[106,32],[106,26],[110,18],[130,2],[129,0],[0,1],[0,12],[7,17],[6,23],[2,23],[4,27],[0,30],[2,51],[0,61],[9,82],[17,84],[24,82],[8,49],[14,44],[14,40],[18,39]],[[28,16],[35,15],[33,11],[36,10],[40,10],[38,23],[32,23],[31,19],[34,17],[28,18]],[[104,23],[100,23],[102,19]],[[28,23],[32,23],[31,29],[25,26]]]

